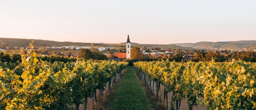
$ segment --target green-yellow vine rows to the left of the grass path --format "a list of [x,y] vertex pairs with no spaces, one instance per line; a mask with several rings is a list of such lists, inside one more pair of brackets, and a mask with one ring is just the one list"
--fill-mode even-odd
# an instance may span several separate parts
[[104,95],[106,87],[111,88],[128,65],[127,62],[45,57],[32,49],[28,53],[0,54],[1,110],[67,110],[73,105],[79,110],[80,104],[86,109],[87,98],[97,101],[96,90]]

